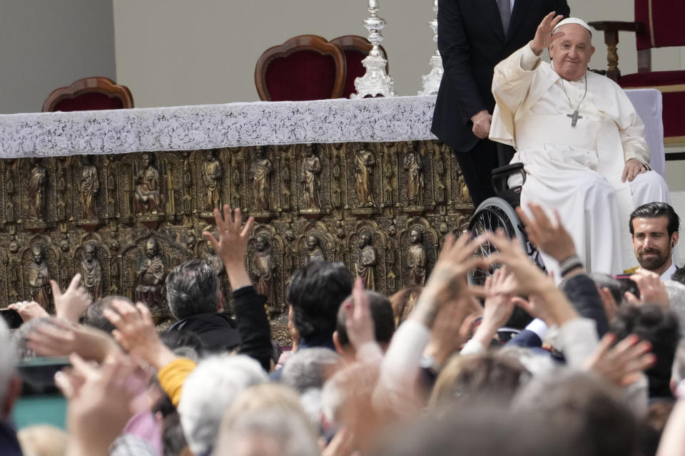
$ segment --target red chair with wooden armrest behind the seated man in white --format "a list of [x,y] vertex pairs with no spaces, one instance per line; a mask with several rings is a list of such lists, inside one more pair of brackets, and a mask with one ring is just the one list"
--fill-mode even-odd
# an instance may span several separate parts
[[[607,76],[622,88],[656,88],[664,100],[664,143],[685,142],[685,71],[651,71],[651,48],[685,46],[682,0],[635,0],[635,22],[590,22],[604,31],[609,50]],[[616,46],[619,31],[631,31],[637,41],[637,73],[621,76]]]

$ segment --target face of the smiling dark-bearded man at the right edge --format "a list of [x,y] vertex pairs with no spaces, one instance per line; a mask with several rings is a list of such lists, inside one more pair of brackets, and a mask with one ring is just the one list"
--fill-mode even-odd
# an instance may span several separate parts
[[633,219],[633,249],[640,266],[656,274],[670,266],[672,247],[678,243],[678,232],[669,237],[666,217],[637,217]]

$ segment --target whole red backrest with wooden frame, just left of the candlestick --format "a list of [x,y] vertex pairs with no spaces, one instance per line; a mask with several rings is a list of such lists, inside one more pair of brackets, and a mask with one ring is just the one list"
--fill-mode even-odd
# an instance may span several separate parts
[[255,67],[261,100],[299,101],[340,98],[345,84],[345,54],[316,35],[290,38],[262,53]]

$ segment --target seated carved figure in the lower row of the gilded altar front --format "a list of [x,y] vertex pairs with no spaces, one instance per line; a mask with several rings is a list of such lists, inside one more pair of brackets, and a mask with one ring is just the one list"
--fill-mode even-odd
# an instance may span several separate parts
[[136,301],[144,302],[150,309],[166,309],[165,279],[166,266],[161,249],[157,239],[151,237],[145,243],[145,259],[138,271]]

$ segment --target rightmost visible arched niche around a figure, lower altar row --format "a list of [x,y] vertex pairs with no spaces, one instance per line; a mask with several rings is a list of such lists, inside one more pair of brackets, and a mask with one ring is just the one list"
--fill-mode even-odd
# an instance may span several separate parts
[[[421,240],[418,243],[425,250],[426,264],[425,264],[425,279],[428,278],[430,271],[435,266],[437,261],[437,247],[440,245],[440,237],[435,229],[430,227],[430,223],[423,217],[412,217],[407,219],[405,228],[400,230],[397,234],[397,239],[400,242],[400,284],[402,287],[416,285],[412,283],[412,274],[410,269],[410,249],[412,247],[411,234],[416,230],[420,233]],[[412,251],[415,254],[416,251]],[[420,284],[423,285],[423,284]]]

